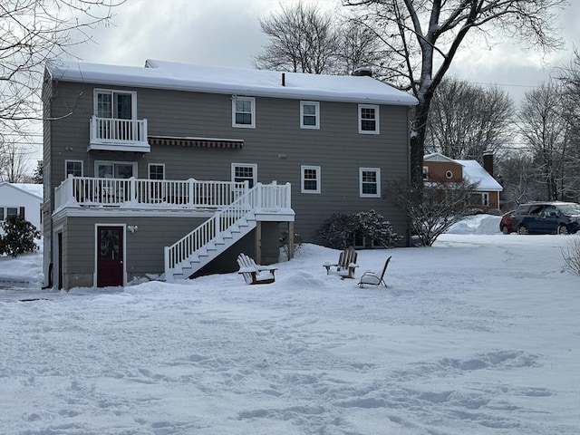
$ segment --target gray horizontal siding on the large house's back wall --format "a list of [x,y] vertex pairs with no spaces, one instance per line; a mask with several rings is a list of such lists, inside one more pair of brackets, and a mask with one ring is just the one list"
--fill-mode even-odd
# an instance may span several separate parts
[[[304,241],[315,241],[314,230],[333,213],[354,213],[371,208],[391,220],[400,234],[408,231],[407,218],[388,200],[359,196],[361,167],[381,169],[382,190],[389,180],[408,179],[409,108],[405,106],[380,106],[380,134],[359,134],[358,104],[321,101],[320,129],[311,130],[300,129],[300,100],[256,97],[256,129],[246,129],[232,127],[231,94],[131,89],[92,83],[52,84],[53,99],[45,100],[45,104],[54,121],[46,121],[44,125],[50,142],[48,147],[45,138],[44,160],[48,161],[52,191],[64,179],[65,160],[82,160],[86,177],[94,176],[95,160],[114,160],[137,162],[137,176],[142,179],[148,178],[150,163],[162,163],[166,179],[200,180],[229,180],[232,162],[250,163],[257,165],[258,181],[292,184],[295,232],[301,234]],[[48,90],[49,85],[45,86]],[[152,145],[150,153],[87,152],[95,88],[137,92],[137,118],[147,119],[149,136],[244,140],[243,148]],[[285,159],[278,158],[279,154],[285,154]],[[301,165],[320,166],[321,194],[301,193]],[[83,232],[80,228],[86,225],[77,224],[75,219],[78,218],[69,219],[68,225],[73,237],[80,237],[82,243],[75,239],[74,247],[69,244],[71,252],[67,256],[71,263],[67,266],[70,273],[86,271],[89,267],[92,270],[94,264],[94,254],[92,258],[86,256],[86,247],[94,245],[94,231]],[[138,243],[145,234],[155,239],[150,241],[149,247],[172,244],[187,233],[185,226],[176,222],[171,219],[169,223],[161,218],[131,221],[131,225],[138,225],[140,230],[128,235],[131,242],[128,272],[131,267],[135,270],[151,267],[147,270],[150,273],[159,271],[159,266],[153,263],[159,264],[162,250],[153,252],[143,243],[133,251],[131,244]],[[90,245],[84,245],[85,242]]]

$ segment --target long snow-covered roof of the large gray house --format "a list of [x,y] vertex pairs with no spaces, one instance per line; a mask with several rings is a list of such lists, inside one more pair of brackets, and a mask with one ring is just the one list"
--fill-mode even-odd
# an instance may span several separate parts
[[258,97],[413,106],[408,93],[368,76],[282,73],[148,59],[144,67],[49,63],[53,80]]

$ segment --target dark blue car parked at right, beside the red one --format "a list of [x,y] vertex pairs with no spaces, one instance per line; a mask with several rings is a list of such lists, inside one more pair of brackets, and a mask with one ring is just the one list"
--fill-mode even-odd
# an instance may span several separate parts
[[580,230],[580,204],[535,202],[522,204],[514,212],[517,234],[574,234]]

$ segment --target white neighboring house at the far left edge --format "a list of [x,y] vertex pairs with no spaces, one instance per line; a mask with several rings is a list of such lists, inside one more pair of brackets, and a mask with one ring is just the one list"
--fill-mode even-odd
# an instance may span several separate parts
[[[0,183],[0,223],[9,216],[18,215],[42,231],[42,205],[42,184]],[[0,234],[3,232],[0,227]]]

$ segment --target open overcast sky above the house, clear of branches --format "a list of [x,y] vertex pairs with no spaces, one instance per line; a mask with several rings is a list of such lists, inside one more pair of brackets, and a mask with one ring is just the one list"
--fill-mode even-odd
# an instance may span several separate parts
[[[339,0],[303,0],[324,9],[344,9]],[[259,18],[298,0],[128,0],[116,8],[109,26],[95,30],[96,43],[75,54],[83,62],[142,66],[146,59],[253,68],[266,44]],[[561,14],[565,50],[542,59],[514,43],[490,49],[478,43],[458,53],[451,74],[470,82],[494,83],[516,102],[544,82],[554,67],[570,62],[573,43],[580,47],[580,1]],[[470,42],[472,43],[472,42]]]

